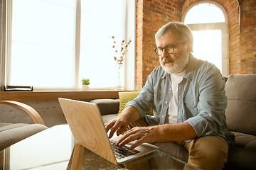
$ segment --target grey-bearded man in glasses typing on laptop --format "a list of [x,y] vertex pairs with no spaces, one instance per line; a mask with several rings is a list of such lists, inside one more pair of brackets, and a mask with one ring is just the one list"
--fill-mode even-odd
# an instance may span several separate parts
[[[168,23],[155,38],[161,66],[151,72],[139,96],[105,124],[106,130],[112,137],[139,124],[117,145],[137,140],[134,149],[144,142],[176,142],[188,150],[188,164],[223,168],[234,143],[225,122],[225,80],[214,64],[193,57],[193,35],[185,24]],[[146,115],[151,108],[154,116]]]

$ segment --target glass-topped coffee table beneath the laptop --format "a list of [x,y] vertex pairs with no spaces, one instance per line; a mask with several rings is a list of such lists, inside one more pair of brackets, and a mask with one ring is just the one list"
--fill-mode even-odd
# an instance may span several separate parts
[[56,125],[5,149],[2,153],[2,169],[71,169],[74,162],[76,169],[183,169],[186,164],[164,152],[156,151],[115,166],[84,147],[80,147],[80,155],[75,154],[74,146],[75,141],[68,125]]

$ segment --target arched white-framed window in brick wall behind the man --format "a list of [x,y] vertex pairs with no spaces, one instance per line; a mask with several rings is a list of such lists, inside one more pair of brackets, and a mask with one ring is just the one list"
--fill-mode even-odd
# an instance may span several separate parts
[[215,64],[228,76],[228,19],[223,6],[214,1],[193,3],[182,21],[193,33],[193,55]]

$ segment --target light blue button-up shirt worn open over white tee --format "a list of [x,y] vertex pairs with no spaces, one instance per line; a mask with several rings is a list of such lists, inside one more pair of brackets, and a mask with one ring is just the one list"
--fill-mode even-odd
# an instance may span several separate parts
[[[171,93],[170,74],[159,66],[147,77],[139,96],[126,106],[137,108],[140,118],[146,117],[149,125],[164,124]],[[225,80],[219,69],[190,55],[183,79],[178,84],[177,123],[189,123],[198,137],[219,135],[233,144],[235,137],[228,130],[225,118],[227,103]],[[146,115],[152,107],[154,115]]]

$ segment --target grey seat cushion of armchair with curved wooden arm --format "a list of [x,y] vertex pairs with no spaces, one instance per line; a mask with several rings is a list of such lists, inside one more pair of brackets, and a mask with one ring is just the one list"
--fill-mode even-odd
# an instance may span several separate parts
[[45,125],[41,124],[0,123],[0,125],[0,151],[26,137],[30,137],[31,135],[47,129]]

